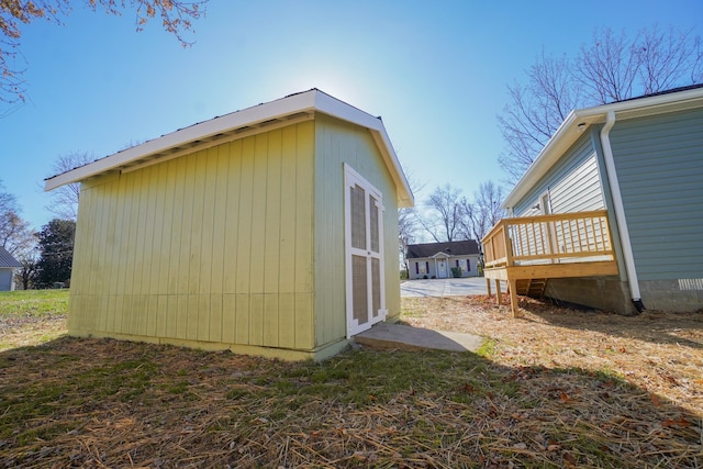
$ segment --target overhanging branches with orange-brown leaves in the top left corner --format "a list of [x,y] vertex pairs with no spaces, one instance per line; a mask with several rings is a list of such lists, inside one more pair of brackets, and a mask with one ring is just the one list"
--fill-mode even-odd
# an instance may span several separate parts
[[152,19],[159,18],[163,27],[174,34],[183,46],[188,42],[183,33],[191,30],[191,21],[204,14],[208,0],[2,0],[0,1],[0,102],[13,104],[24,102],[25,86],[22,75],[25,63],[20,52],[21,25],[43,19],[63,24],[71,5],[82,3],[96,11],[102,8],[105,13],[120,15],[132,8],[134,25],[142,31]]

